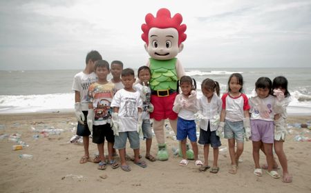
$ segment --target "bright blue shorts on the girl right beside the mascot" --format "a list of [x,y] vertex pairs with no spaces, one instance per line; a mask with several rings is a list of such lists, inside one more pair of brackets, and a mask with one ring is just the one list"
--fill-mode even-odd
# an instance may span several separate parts
[[191,142],[196,142],[196,123],[194,120],[185,120],[178,116],[177,119],[177,136],[178,141],[187,139],[187,136]]

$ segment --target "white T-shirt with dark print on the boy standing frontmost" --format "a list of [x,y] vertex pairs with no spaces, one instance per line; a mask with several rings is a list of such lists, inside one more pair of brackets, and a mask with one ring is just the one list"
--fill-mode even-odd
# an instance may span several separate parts
[[113,96],[111,107],[119,108],[119,132],[136,131],[138,108],[142,108],[140,92],[129,92],[123,88],[118,90]]

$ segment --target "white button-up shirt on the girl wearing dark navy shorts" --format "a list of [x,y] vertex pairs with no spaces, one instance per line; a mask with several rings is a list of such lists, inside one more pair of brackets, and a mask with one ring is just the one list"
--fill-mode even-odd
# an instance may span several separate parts
[[[221,109],[222,109],[223,101],[216,95],[213,94],[213,97],[211,98],[211,102],[209,103],[206,96],[201,96],[200,99],[198,99],[198,110],[202,111],[203,116],[207,117],[207,119],[201,119],[200,120],[200,128],[202,130],[207,131],[207,126],[209,124],[210,120],[214,119],[214,116],[217,114],[220,115]],[[209,125],[211,132],[216,131],[218,126]]]

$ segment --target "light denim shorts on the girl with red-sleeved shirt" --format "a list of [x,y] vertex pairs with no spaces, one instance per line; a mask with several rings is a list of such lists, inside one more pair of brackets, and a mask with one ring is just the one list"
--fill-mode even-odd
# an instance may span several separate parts
[[236,141],[244,143],[244,125],[243,121],[227,121],[225,120],[225,129],[224,129],[225,139],[236,139]]

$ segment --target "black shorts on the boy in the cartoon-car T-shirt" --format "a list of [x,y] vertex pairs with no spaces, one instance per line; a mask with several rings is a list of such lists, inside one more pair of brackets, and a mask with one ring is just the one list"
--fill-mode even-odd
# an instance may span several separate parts
[[105,125],[93,125],[93,143],[100,144],[105,142],[105,138],[110,143],[115,143],[115,136],[110,123]]

